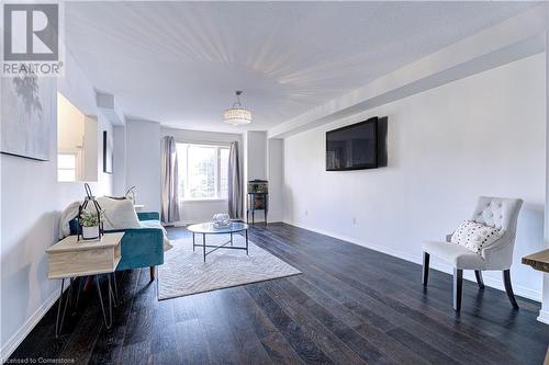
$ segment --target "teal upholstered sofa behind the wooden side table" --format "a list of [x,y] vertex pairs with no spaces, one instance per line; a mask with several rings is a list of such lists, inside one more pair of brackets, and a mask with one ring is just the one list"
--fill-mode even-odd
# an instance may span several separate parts
[[[116,271],[150,267],[150,281],[155,280],[155,266],[164,263],[164,232],[160,216],[156,212],[138,212],[143,228],[111,230],[124,232],[122,237],[122,259]],[[70,221],[70,233],[77,233],[76,218]]]

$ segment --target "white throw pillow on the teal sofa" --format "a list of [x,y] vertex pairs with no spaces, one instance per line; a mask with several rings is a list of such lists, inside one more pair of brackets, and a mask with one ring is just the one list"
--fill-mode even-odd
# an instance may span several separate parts
[[104,212],[104,230],[141,228],[139,218],[131,199],[113,199],[105,196],[97,199]]

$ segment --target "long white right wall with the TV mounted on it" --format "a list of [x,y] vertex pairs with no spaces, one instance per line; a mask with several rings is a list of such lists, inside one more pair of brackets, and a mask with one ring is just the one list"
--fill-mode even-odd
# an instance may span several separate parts
[[[541,274],[520,258],[544,248],[545,72],[539,54],[287,138],[284,220],[419,263],[421,242],[479,195],[522,197],[513,284],[539,300]],[[325,171],[325,132],[373,115],[389,116],[389,167]]]

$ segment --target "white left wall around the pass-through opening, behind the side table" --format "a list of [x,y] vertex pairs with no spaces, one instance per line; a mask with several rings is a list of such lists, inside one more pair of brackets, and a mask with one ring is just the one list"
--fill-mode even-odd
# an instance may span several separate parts
[[[70,54],[66,55],[66,76],[57,80],[58,90],[86,114],[97,114],[94,92]],[[56,93],[55,80],[51,92]],[[56,98],[53,96],[55,103]],[[56,104],[56,103],[55,103]],[[58,281],[47,280],[44,251],[57,241],[60,212],[83,197],[82,183],[57,182],[56,105],[43,105],[51,123],[49,161],[0,156],[1,162],[1,350],[8,356],[57,299]],[[112,132],[99,117],[98,137]],[[98,159],[100,155],[98,148]],[[101,169],[99,166],[99,169]],[[111,175],[98,171],[97,195],[110,194]]]

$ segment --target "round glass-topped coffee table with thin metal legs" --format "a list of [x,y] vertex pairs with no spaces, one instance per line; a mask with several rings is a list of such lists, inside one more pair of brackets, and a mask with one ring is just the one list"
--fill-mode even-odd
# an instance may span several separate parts
[[[204,262],[206,255],[219,249],[246,250],[246,254],[248,254],[248,228],[249,228],[248,225],[242,221],[232,221],[231,226],[226,228],[215,228],[215,226],[211,221],[187,227],[187,229],[192,232],[192,251],[194,251],[195,247],[202,247]],[[233,246],[233,233],[242,231],[246,232],[246,247]],[[202,235],[202,244],[195,243],[194,240],[195,233]],[[219,246],[206,244],[205,238],[208,235],[229,235],[229,240]],[[228,246],[229,243],[231,246]],[[206,248],[213,248],[213,250],[206,252]]]

